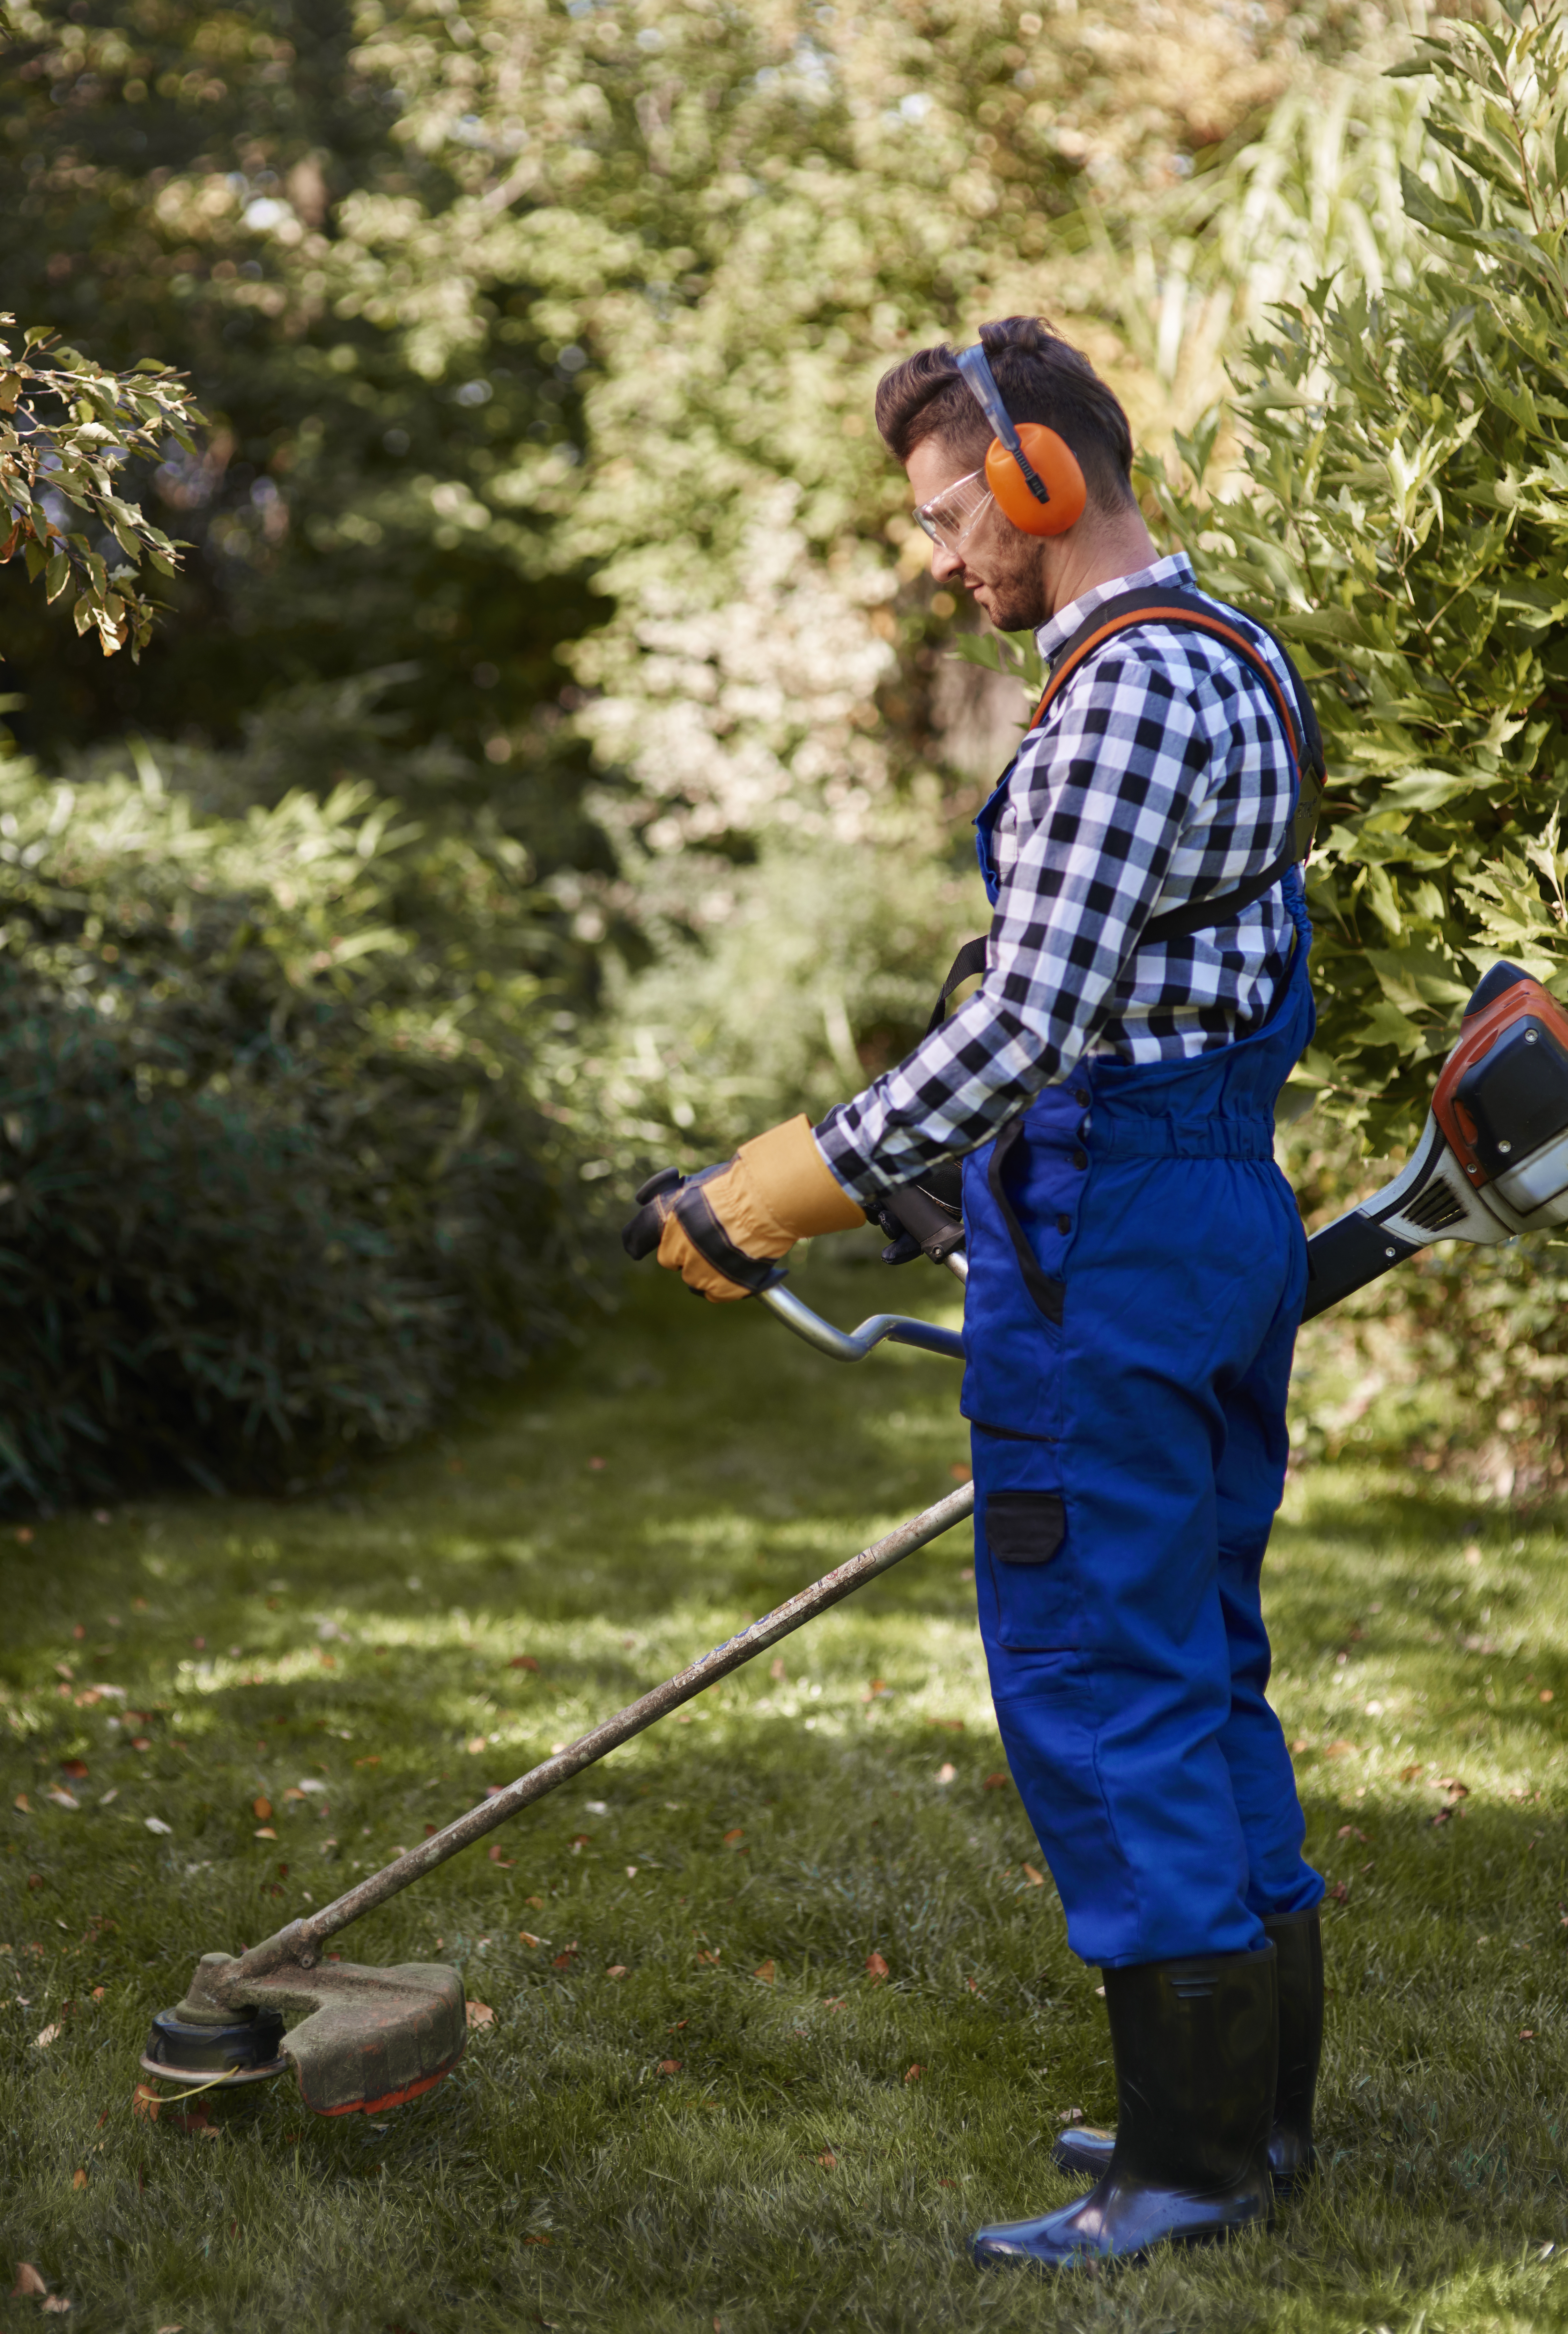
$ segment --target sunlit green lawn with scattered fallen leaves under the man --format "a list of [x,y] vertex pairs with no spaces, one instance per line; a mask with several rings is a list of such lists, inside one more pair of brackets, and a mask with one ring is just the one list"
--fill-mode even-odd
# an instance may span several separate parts
[[[945,1298],[842,1260],[798,1286],[840,1321]],[[947,1363],[845,1370],[649,1277],[329,1498],[7,1526],[0,2292],[26,2259],[72,2325],[147,2334],[1568,2325],[1561,1543],[1377,1454],[1293,1480],[1272,1564],[1309,1853],[1342,1893],[1325,2171],[1272,2234],[968,2266],[978,2222],[1071,2194],[1055,2122],[1113,2096],[1097,1972],[987,1781],[964,1533],[523,1816],[509,1863],[457,1858],[352,1933],[495,2010],[441,2089],[376,2126],[282,2084],[208,2136],[133,2115],[198,1951],[324,1902],[964,1456]],[[37,2315],[0,2301],[0,2327]]]

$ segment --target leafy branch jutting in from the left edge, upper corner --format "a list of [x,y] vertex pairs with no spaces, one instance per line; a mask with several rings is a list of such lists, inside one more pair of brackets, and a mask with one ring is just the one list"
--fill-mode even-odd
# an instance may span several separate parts
[[138,455],[163,460],[170,439],[194,453],[205,415],[184,378],[152,357],[114,373],[44,327],[16,348],[5,336],[14,324],[0,315],[0,567],[26,560],[49,602],[75,588],[77,633],[96,630],[105,656],[128,647],[140,658],[159,616],[142,562],[173,576],[182,546],[117,483]]

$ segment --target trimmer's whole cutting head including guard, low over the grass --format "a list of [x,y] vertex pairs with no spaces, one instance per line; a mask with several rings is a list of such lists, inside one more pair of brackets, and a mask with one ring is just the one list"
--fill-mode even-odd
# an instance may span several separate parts
[[[462,1977],[439,1961],[238,1972],[231,1954],[201,1956],[187,1998],[152,2021],[149,2075],[229,2084],[292,2066],[317,2115],[378,2115],[432,2091],[469,2040]],[[285,2012],[306,2014],[285,2033]]]

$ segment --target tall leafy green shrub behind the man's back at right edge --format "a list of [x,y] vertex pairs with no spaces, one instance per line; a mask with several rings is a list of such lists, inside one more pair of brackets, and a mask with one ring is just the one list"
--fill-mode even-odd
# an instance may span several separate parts
[[1297,1074],[1374,1148],[1409,1139],[1475,978],[1568,994],[1568,33],[1512,5],[1426,40],[1435,184],[1379,294],[1283,308],[1237,394],[1244,485],[1202,497],[1218,415],[1157,471],[1204,581],[1300,651],[1330,794],[1309,899],[1318,1039]]

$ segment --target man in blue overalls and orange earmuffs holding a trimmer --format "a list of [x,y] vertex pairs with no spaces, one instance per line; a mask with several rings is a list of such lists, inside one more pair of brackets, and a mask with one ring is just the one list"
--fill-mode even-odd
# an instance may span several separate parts
[[877,427],[933,576],[1052,665],[978,817],[985,976],[819,1127],[651,1193],[628,1246],[747,1295],[964,1158],[980,1629],[1118,2073],[1115,2136],[1052,2150],[1092,2192],[975,2257],[1080,2264],[1267,2220],[1311,2161],[1323,1884],[1258,1575],[1307,1279],[1272,1111],[1311,1034],[1314,726],[1272,637],[1157,555],[1122,408],[1041,322],[898,364]]

